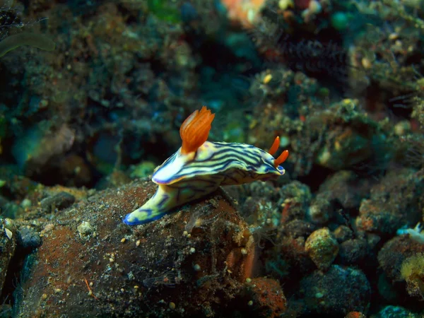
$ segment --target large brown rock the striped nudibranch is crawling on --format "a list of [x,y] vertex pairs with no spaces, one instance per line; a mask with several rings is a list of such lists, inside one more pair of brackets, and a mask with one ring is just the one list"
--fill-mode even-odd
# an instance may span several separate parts
[[[20,314],[195,317],[231,315],[230,300],[245,306],[237,297],[254,273],[255,244],[230,201],[218,192],[146,225],[122,223],[155,187],[126,184],[57,215],[23,286]],[[81,224],[90,225],[83,235]],[[283,303],[279,285],[271,294]]]

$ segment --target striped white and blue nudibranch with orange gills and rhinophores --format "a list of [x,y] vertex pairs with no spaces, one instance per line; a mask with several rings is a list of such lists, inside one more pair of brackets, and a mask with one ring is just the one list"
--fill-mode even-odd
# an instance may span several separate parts
[[140,208],[124,218],[128,225],[158,220],[177,206],[214,192],[222,185],[243,184],[284,175],[281,163],[288,157],[276,137],[269,152],[247,143],[207,141],[215,114],[206,106],[196,110],[182,123],[179,135],[182,146],[156,167],[152,181],[158,190]]

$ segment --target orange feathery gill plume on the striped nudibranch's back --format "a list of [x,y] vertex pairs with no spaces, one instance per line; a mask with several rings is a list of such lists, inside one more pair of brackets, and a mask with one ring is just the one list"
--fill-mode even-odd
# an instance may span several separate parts
[[181,125],[179,136],[182,139],[181,153],[186,155],[196,151],[208,139],[215,114],[206,106],[196,110]]

